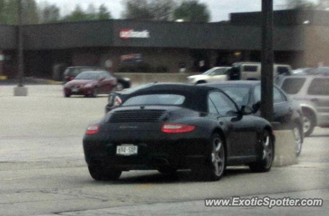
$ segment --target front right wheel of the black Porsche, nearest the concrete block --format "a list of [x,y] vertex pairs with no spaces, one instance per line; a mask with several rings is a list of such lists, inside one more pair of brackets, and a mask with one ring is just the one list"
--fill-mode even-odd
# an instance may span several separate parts
[[252,172],[268,172],[272,166],[274,158],[274,143],[269,131],[265,130],[262,133],[260,144],[261,151],[259,161],[249,164]]

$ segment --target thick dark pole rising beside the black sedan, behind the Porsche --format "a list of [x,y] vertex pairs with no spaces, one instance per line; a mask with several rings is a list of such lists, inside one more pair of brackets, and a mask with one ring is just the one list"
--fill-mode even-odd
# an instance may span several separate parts
[[273,121],[273,0],[262,0],[261,115]]

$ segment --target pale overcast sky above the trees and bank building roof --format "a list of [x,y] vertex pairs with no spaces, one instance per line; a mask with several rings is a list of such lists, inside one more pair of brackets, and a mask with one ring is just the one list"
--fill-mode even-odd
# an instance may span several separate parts
[[[161,1],[161,0],[159,0]],[[275,9],[284,9],[286,2],[289,0],[274,0]],[[291,0],[290,0],[291,1]],[[314,0],[315,1],[315,0]],[[122,0],[36,0],[36,2],[56,4],[61,8],[61,15],[65,15],[74,10],[75,5],[79,4],[83,9],[86,9],[90,3],[93,3],[96,8],[101,4],[105,4],[112,16],[119,19],[123,10]],[[208,5],[211,12],[211,21],[218,22],[229,20],[229,13],[260,11],[261,0],[199,0],[199,2]]]

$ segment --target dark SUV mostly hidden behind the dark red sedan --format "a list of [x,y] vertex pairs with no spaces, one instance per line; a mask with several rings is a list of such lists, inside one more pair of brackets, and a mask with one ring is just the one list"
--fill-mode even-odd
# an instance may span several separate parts
[[[101,67],[96,66],[75,66],[75,67],[67,67],[64,71],[64,83],[73,80],[77,75],[82,73],[83,71],[96,71],[96,70],[104,70]],[[113,77],[117,78],[117,86],[115,87],[116,91],[121,91],[124,88],[130,88],[131,80],[130,78],[121,77],[114,73],[108,71]]]

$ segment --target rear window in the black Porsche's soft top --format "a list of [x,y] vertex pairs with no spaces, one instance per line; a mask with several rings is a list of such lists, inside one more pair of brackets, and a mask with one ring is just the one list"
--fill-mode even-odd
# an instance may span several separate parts
[[171,94],[138,95],[127,99],[122,106],[133,105],[181,105],[185,96]]

